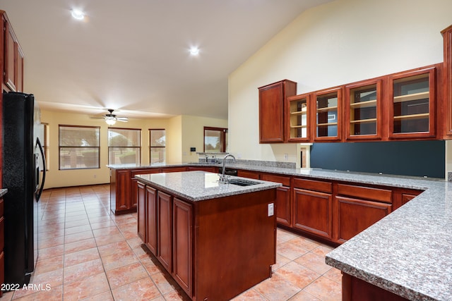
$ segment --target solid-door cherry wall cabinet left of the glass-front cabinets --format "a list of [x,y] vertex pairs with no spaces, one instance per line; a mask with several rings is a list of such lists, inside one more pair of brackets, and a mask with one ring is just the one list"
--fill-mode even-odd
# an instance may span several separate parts
[[285,132],[285,101],[297,94],[297,82],[281,80],[258,88],[259,142],[287,142]]

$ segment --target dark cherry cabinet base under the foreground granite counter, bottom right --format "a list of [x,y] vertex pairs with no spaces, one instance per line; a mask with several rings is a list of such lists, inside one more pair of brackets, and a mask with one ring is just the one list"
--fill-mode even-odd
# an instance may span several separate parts
[[406,301],[388,290],[343,273],[342,301]]

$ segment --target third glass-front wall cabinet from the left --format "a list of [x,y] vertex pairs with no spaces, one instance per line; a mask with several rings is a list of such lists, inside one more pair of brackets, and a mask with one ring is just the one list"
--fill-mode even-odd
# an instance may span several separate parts
[[381,80],[345,87],[347,140],[381,138]]

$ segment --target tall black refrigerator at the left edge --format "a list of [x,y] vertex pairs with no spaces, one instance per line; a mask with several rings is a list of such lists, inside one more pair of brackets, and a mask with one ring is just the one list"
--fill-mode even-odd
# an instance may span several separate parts
[[[32,94],[3,93],[2,188],[5,283],[28,284],[37,260],[39,199],[45,180],[40,111]],[[42,140],[42,138],[41,138]]]

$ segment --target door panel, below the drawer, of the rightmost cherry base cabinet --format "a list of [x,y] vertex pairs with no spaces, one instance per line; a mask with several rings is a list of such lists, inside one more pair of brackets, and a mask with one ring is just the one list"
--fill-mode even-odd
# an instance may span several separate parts
[[335,197],[338,242],[350,240],[359,232],[391,213],[391,204]]

